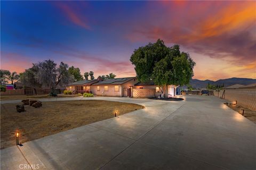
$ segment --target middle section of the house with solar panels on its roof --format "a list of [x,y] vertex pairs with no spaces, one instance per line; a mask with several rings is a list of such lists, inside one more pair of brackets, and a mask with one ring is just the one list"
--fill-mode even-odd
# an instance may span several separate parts
[[92,84],[91,92],[98,96],[132,97],[136,77],[106,79]]

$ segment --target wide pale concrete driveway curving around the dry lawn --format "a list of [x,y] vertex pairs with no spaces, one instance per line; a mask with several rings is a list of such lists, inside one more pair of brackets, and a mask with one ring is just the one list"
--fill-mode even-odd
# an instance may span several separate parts
[[2,149],[1,169],[256,169],[255,124],[216,97],[185,98],[70,98],[146,108]]

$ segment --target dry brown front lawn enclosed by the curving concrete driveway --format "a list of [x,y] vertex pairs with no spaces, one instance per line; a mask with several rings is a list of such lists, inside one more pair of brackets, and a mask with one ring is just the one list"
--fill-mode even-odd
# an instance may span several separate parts
[[142,109],[141,105],[105,100],[43,102],[43,107],[25,105],[18,113],[15,105],[1,105],[1,149],[15,145],[15,132],[20,142],[45,137],[93,122]]

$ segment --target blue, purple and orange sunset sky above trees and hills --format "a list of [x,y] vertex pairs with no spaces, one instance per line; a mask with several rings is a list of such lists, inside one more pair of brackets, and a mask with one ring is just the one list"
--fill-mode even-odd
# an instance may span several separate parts
[[158,38],[190,54],[194,79],[256,79],[256,1],[1,1],[1,69],[50,58],[130,77],[133,50]]

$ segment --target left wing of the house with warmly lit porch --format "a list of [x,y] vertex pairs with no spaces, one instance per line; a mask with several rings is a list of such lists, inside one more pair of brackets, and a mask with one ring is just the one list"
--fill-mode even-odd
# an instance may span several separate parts
[[66,89],[81,94],[84,92],[91,92],[91,85],[99,81],[100,79],[76,81],[69,84],[69,86]]

